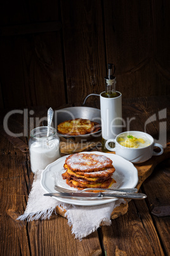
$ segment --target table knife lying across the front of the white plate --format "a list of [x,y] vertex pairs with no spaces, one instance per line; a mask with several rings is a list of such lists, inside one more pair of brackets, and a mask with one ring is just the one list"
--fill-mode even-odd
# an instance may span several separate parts
[[44,196],[55,196],[55,197],[84,197],[88,198],[103,198],[103,197],[112,197],[112,198],[126,198],[126,199],[145,199],[147,195],[141,193],[121,193],[121,192],[114,192],[112,194],[105,194],[102,192],[99,193],[48,193],[44,194]]

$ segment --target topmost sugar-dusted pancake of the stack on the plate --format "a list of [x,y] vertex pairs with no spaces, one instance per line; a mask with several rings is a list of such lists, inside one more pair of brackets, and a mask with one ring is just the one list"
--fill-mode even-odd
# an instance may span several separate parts
[[112,160],[105,155],[93,153],[75,153],[67,157],[65,164],[74,172],[91,173],[102,171],[105,168],[113,167]]

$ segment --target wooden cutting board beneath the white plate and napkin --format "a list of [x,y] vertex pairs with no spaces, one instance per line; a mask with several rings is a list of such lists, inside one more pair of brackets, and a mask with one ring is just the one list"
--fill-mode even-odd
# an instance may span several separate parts
[[[110,152],[108,152],[108,153],[110,153]],[[157,164],[159,164],[160,162],[162,162],[163,160],[166,160],[168,158],[170,158],[170,143],[167,144],[167,147],[164,149],[164,153],[162,155],[159,155],[157,157],[156,156],[152,157],[147,162],[144,162],[141,164],[134,164],[134,166],[138,170],[138,185],[136,186],[136,188],[138,188],[138,190],[139,190],[143,181],[145,181],[148,178],[148,176],[150,176],[150,174],[152,174],[152,172],[154,171]],[[115,208],[112,211],[111,218],[112,219],[118,218],[121,215],[126,214],[128,211],[129,201],[130,200],[125,200],[125,202],[126,202],[125,204],[121,204],[120,206]],[[65,217],[66,211],[63,210],[62,208],[60,208],[59,206],[56,207],[56,212],[58,214],[60,214],[62,217]]]

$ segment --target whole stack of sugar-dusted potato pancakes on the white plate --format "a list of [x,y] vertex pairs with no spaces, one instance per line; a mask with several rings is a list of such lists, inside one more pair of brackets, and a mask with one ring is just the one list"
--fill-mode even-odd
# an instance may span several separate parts
[[65,160],[64,180],[70,187],[108,188],[115,182],[112,174],[115,171],[112,160],[105,155],[93,153],[75,153]]

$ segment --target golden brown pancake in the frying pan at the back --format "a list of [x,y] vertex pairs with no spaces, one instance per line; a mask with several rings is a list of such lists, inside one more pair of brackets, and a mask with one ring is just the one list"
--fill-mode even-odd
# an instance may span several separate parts
[[88,119],[75,118],[60,123],[57,129],[60,134],[79,136],[98,131],[100,125],[96,122],[91,122]]

